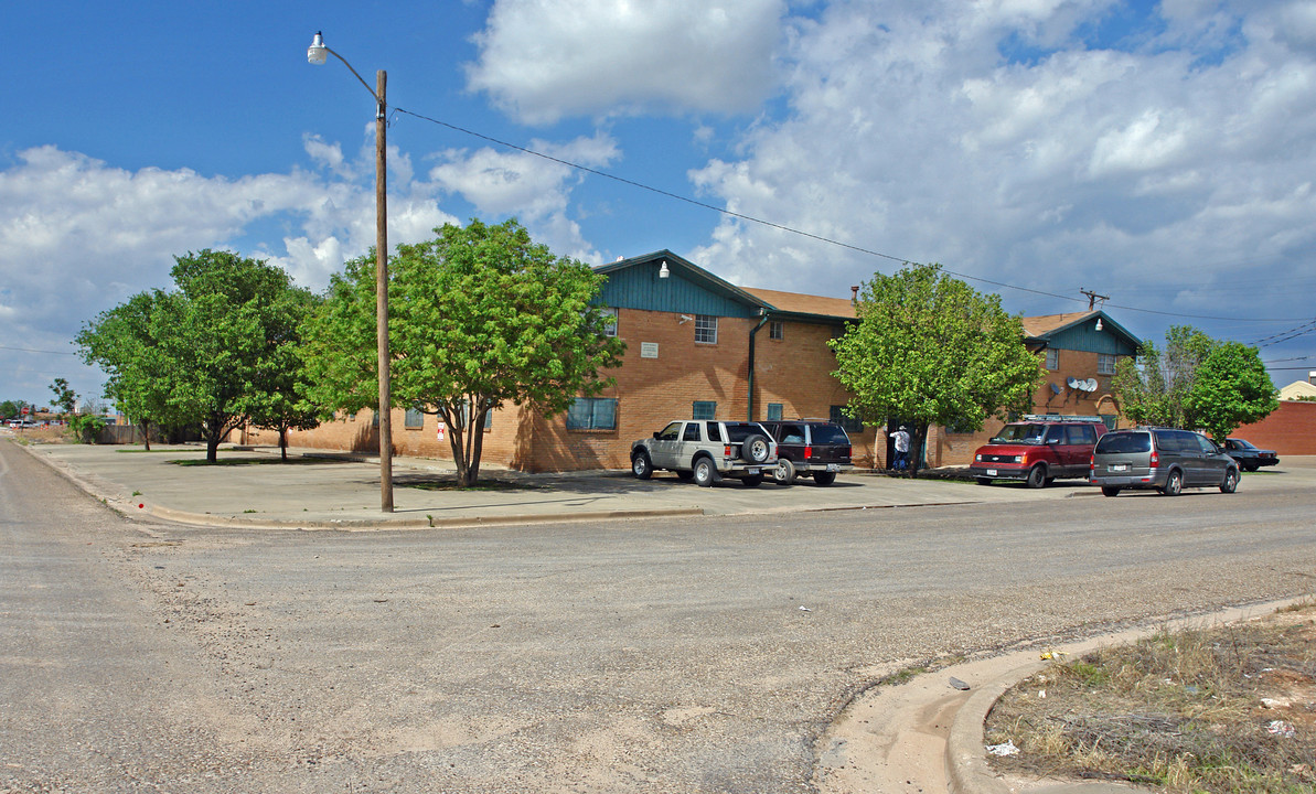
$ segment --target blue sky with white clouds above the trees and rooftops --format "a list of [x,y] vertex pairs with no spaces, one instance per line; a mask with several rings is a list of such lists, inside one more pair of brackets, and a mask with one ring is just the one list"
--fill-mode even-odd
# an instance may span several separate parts
[[[641,8],[641,7],[645,8]],[[649,8],[651,5],[651,8]],[[226,247],[320,289],[374,242],[517,216],[592,264],[659,248],[848,297],[941,262],[1024,314],[1111,296],[1132,333],[1316,318],[1311,0],[8,4],[0,398],[45,402],[84,322]],[[886,256],[701,209],[417,118]],[[1000,288],[996,281],[1020,289]],[[1316,335],[1263,347],[1277,385]]]

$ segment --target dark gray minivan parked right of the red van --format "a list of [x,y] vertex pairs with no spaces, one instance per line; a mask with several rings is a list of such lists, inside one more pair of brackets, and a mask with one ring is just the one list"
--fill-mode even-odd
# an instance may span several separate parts
[[1088,481],[1105,496],[1154,488],[1178,496],[1184,488],[1238,488],[1238,464],[1209,438],[1191,430],[1138,427],[1107,432],[1092,450]]

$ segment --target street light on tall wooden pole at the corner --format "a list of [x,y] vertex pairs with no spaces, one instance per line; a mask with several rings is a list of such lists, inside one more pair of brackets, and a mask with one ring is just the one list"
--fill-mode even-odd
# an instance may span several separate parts
[[307,60],[316,66],[324,64],[333,55],[361,80],[361,84],[375,97],[375,338],[379,346],[379,509],[393,511],[393,422],[392,397],[388,377],[388,198],[386,195],[386,141],[384,121],[388,104],[384,101],[384,87],[388,74],[375,72],[375,88],[362,80],[342,55],[325,46],[321,33],[311,39],[307,47]]

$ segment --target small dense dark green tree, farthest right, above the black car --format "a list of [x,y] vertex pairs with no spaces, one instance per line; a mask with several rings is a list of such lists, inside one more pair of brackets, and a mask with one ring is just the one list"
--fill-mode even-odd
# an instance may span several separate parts
[[1184,400],[1187,426],[1224,443],[1240,425],[1258,422],[1279,408],[1277,394],[1255,347],[1219,343],[1198,367]]

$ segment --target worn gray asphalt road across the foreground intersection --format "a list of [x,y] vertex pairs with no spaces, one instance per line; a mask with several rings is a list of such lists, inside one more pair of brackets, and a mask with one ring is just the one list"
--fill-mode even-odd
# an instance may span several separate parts
[[347,534],[128,523],[0,444],[0,791],[811,791],[911,661],[1312,593],[1313,480]]

